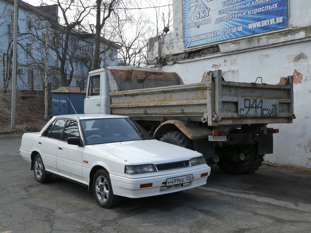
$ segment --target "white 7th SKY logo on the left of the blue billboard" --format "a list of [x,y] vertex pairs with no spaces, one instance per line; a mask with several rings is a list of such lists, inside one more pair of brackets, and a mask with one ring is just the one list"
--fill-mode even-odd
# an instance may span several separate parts
[[[209,16],[209,11],[211,10],[211,8],[207,7],[208,2],[211,2],[213,0],[201,0],[196,1],[196,2],[192,2],[189,4],[189,14],[188,17],[191,20],[191,22],[193,21],[200,21],[206,17]],[[200,23],[198,23],[196,26],[197,28],[200,27]]]

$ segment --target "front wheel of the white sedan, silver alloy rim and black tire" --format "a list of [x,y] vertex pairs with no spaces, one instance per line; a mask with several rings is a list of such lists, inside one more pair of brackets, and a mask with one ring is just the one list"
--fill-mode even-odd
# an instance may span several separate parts
[[120,196],[114,195],[109,173],[104,169],[100,169],[95,173],[93,178],[93,194],[97,203],[103,208],[115,207],[121,201]]

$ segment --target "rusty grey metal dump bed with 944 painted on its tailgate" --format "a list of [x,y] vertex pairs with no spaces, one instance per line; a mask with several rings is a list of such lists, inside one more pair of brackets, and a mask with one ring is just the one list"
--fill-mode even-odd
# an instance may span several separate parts
[[134,120],[188,118],[209,126],[291,123],[295,118],[293,77],[280,83],[227,82],[220,70],[208,71],[201,83],[110,92],[110,109]]

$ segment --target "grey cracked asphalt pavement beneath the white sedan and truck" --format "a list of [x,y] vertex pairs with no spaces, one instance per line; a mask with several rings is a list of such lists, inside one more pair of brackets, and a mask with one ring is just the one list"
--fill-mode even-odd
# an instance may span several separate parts
[[311,232],[311,173],[262,166],[231,176],[212,165],[206,185],[103,209],[87,188],[40,184],[19,155],[21,137],[0,135],[0,233]]

